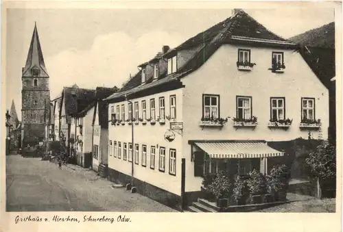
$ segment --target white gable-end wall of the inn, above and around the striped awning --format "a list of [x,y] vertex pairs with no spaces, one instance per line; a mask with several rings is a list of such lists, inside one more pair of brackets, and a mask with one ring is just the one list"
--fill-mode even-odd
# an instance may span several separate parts
[[[257,65],[249,72],[237,70],[237,49],[251,49],[251,62]],[[190,162],[191,147],[188,140],[267,140],[283,141],[307,138],[308,131],[300,131],[301,97],[316,98],[316,119],[322,121],[322,138],[327,138],[329,127],[329,91],[325,88],[299,53],[284,52],[285,73],[272,73],[272,51],[245,46],[223,45],[198,70],[182,79],[185,84],[182,118],[184,133],[182,152],[186,157],[186,191],[199,191],[202,178],[193,177],[193,163]],[[220,94],[220,117],[230,116],[228,123],[219,128],[199,126],[202,117],[202,94]],[[252,96],[252,115],[257,116],[259,125],[255,130],[235,129],[236,96]],[[293,119],[291,127],[269,129],[270,97],[285,97],[285,116]],[[319,132],[314,131],[313,138]]]

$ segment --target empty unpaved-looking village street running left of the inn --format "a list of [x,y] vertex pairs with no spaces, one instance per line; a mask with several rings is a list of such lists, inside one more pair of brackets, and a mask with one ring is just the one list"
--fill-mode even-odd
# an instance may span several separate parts
[[175,211],[112,184],[78,166],[6,156],[7,211]]

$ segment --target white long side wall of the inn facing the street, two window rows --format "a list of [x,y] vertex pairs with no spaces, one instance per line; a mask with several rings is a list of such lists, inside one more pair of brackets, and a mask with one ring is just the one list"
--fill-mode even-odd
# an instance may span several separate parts
[[[154,94],[150,96],[144,96],[139,99],[132,99],[132,102],[139,102],[139,118],[142,117],[141,111],[141,101],[145,100],[147,105],[147,118],[150,118],[150,99],[155,99],[156,107],[156,117],[159,115],[158,111],[158,98],[160,96],[165,97],[165,115],[169,116],[169,96],[176,94],[176,119],[177,121],[182,121],[182,89],[172,90],[169,92],[163,92],[159,94]],[[111,106],[116,106],[125,104],[126,106],[126,119],[128,118],[128,102],[113,103],[108,106],[108,112],[110,117]],[[123,172],[126,175],[131,175],[131,162],[128,160],[123,160],[123,142],[129,143],[132,140],[131,125],[128,122],[125,125],[111,125],[108,124],[108,140],[121,142],[121,159],[117,157],[108,156],[108,167],[119,172]],[[138,125],[134,124],[134,144],[139,144],[139,165],[134,164],[134,177],[155,185],[158,188],[162,188],[174,194],[180,195],[181,189],[181,158],[182,158],[182,136],[175,133],[175,140],[172,142],[167,142],[164,138],[165,132],[169,129],[169,120],[165,120],[165,125],[161,125],[156,122],[155,125],[150,125],[147,122],[146,125],[142,125],[139,122]],[[141,149],[142,144],[147,145],[147,166],[142,166],[141,161]],[[152,170],[150,168],[150,147],[156,146],[156,157],[155,157],[155,168]],[[158,170],[158,155],[159,147],[164,146],[166,149],[165,154],[165,172],[160,172]],[[176,149],[176,176],[169,175],[169,149]]]

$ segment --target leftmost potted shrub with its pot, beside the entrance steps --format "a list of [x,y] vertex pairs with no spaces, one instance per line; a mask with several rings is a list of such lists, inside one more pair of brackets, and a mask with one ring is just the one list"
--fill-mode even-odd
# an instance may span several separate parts
[[226,176],[226,172],[220,172],[208,186],[211,194],[217,199],[217,207],[227,207],[228,198],[230,197],[231,184]]

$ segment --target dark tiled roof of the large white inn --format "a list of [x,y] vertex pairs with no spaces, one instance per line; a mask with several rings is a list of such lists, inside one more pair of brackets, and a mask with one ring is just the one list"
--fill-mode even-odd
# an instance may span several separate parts
[[167,57],[178,50],[200,47],[193,57],[190,57],[182,67],[178,68],[176,73],[167,75],[166,77],[162,76],[162,79],[156,81],[151,80],[152,82],[150,83],[147,81],[147,83],[141,85],[141,72],[139,72],[132,77],[132,79],[128,80],[121,90],[105,100],[116,99],[132,92],[139,92],[147,88],[169,84],[170,81],[178,80],[202,66],[202,64],[204,64],[206,60],[209,60],[209,57],[211,57],[222,44],[242,41],[257,44],[274,44],[274,46],[277,44],[277,46],[287,46],[292,49],[297,48],[296,44],[272,33],[263,27],[263,25],[257,23],[255,19],[246,14],[243,10],[237,10],[230,18],[226,18],[226,20],[202,31],[200,34],[186,40],[175,49],[171,49],[162,55],[163,57]]

